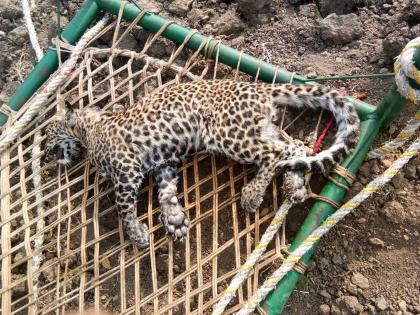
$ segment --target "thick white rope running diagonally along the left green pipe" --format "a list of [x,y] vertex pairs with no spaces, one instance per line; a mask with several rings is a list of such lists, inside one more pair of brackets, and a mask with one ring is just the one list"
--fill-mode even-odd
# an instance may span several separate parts
[[77,59],[85,46],[105,27],[107,22],[107,17],[102,18],[80,38],[70,57],[62,64],[59,71],[54,73],[48,80],[47,85],[38,92],[36,97],[30,100],[30,105],[22,117],[3,132],[0,137],[0,154],[22,133],[27,124],[38,114],[49,96],[71,75],[71,71],[76,66]]

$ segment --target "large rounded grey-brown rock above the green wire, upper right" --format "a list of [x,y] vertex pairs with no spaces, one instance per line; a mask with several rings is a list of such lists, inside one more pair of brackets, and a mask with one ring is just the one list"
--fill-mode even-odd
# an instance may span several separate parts
[[346,44],[362,35],[362,23],[354,13],[330,14],[319,25],[321,38],[327,44]]

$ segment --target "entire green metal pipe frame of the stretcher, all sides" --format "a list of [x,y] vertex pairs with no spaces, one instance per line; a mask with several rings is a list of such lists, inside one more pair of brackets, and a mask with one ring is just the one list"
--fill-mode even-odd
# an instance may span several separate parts
[[[93,22],[96,16],[101,11],[106,11],[117,15],[120,9],[120,0],[86,0],[82,8],[77,12],[75,17],[69,23],[62,33],[62,37],[69,43],[74,44],[84,31]],[[123,18],[127,21],[133,21],[140,13],[140,9],[132,4],[126,4],[123,11]],[[158,15],[147,13],[140,20],[139,25],[144,29],[156,33],[167,21]],[[184,42],[190,30],[175,23],[170,24],[163,32],[162,36],[172,40],[177,44]],[[198,33],[194,34],[186,46],[192,50],[199,49],[201,43],[207,38]],[[209,46],[214,48],[218,42],[213,40]],[[216,49],[212,49],[212,58],[216,57]],[[209,49],[207,50],[209,51]],[[249,75],[255,76],[259,71],[259,79],[266,82],[272,82],[276,74],[276,67],[262,62],[247,54],[242,54],[236,49],[220,44],[218,46],[219,62],[224,63],[232,68],[236,68],[239,60],[239,70]],[[201,53],[204,53],[202,51]],[[416,66],[420,68],[420,49],[416,51]],[[54,49],[49,49],[44,58],[34,67],[31,74],[18,88],[15,94],[8,102],[8,106],[13,110],[18,110],[48,79],[48,77],[58,67],[58,55]],[[293,75],[285,69],[277,69],[276,81],[286,83],[293,77],[293,83],[304,83],[308,80],[299,75]],[[372,106],[368,103],[349,98],[349,100],[356,106],[358,114],[362,120],[361,123],[361,137],[354,150],[354,152],[343,162],[342,166],[348,169],[353,174],[357,173],[360,165],[363,163],[369,148],[375,139],[376,135],[384,128],[389,126],[392,120],[398,116],[399,112],[404,108],[406,100],[398,93],[395,85],[389,90],[385,98],[378,107]],[[7,121],[5,115],[0,116],[0,126]],[[348,185],[348,183],[338,175],[333,175],[338,182]],[[345,196],[345,189],[336,186],[332,182],[327,182],[324,186],[321,195],[326,196],[337,203],[340,203]],[[312,206],[307,218],[305,219],[302,228],[296,234],[290,250],[295,249],[315,228],[317,228],[329,215],[334,212],[334,208],[328,203],[317,201]],[[313,254],[314,249],[307,253],[303,258],[303,262],[308,262]],[[290,272],[277,286],[267,299],[262,303],[262,308],[267,314],[280,314],[283,310],[287,300],[292,293],[298,279],[299,273]]]

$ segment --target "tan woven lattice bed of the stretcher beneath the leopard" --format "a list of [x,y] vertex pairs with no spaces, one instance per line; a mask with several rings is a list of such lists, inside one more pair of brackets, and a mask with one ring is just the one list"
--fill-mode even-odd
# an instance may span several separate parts
[[[210,61],[163,39],[160,35],[169,24],[157,34],[147,33],[136,25],[140,18],[126,25],[120,15],[101,32],[65,84],[1,156],[2,314],[62,314],[88,307],[121,314],[208,314],[280,205],[281,182],[276,180],[260,210],[255,215],[246,213],[238,201],[254,168],[199,155],[178,170],[179,197],[192,223],[189,237],[174,243],[165,236],[150,177],[138,203],[139,218],[149,226],[150,247],[138,251],[117,219],[111,184],[94,166],[84,160],[64,168],[48,160],[43,150],[33,155],[34,146],[41,144],[43,149],[45,139],[34,143],[35,132],[44,129],[64,101],[75,108],[111,109],[132,106],[169,84],[232,76],[251,80],[218,64],[217,58]],[[120,48],[133,36],[143,46]],[[210,50],[209,42],[202,49]],[[309,135],[308,125],[312,123],[316,130],[327,119],[321,116],[285,108],[281,124],[288,133],[304,138]],[[37,159],[42,181],[35,190],[32,179],[37,174],[31,164]],[[303,217],[306,208],[292,213]],[[281,264],[287,252],[286,235],[283,225],[227,313],[238,310],[264,275]],[[34,249],[40,236],[43,242]],[[33,260],[39,258],[38,269]]]

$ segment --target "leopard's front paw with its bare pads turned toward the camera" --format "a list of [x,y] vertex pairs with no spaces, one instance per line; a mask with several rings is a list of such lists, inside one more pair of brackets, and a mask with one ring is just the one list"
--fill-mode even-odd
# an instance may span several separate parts
[[183,240],[190,227],[190,220],[179,204],[178,198],[173,196],[161,205],[160,222],[165,226],[166,232],[176,240]]

